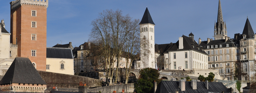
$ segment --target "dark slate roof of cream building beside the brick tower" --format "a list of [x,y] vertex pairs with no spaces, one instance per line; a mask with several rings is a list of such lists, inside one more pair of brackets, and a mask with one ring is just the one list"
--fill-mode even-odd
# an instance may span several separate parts
[[46,48],[46,58],[67,58],[73,59],[71,48]]

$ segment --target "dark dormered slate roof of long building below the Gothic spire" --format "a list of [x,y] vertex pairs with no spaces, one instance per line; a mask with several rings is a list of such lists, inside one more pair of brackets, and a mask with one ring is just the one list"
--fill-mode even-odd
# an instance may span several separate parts
[[202,41],[200,43],[200,46],[203,46],[203,49],[207,49],[207,46],[210,46],[211,48],[211,45],[214,45],[214,48],[215,48],[215,45],[218,45],[218,48],[220,48],[220,45],[222,45],[222,48],[225,48],[227,47],[227,44],[228,44],[228,47],[235,47],[234,41],[230,39],[228,39],[227,42],[225,42],[225,39],[211,40],[208,44],[207,44],[207,41]]

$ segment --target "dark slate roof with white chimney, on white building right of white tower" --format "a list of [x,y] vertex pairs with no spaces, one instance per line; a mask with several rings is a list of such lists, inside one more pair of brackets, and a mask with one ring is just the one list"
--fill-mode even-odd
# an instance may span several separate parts
[[193,41],[191,38],[184,36],[184,35],[182,35],[181,37],[183,37],[183,49],[179,49],[179,41],[177,41],[171,48],[167,49],[167,51],[195,50],[195,51],[206,54],[205,51],[203,51],[201,48],[199,48],[199,45],[197,44],[197,42],[195,40]]

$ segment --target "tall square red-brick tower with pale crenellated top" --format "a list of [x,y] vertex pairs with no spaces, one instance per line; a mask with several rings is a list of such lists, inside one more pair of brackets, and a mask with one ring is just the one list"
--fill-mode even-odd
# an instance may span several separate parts
[[37,70],[46,71],[48,0],[11,1],[11,43],[17,56],[28,57]]

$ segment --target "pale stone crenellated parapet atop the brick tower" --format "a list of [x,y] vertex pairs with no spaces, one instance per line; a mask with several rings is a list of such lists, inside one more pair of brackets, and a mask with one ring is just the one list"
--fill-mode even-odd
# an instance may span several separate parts
[[48,0],[15,0],[11,1],[10,4],[11,10],[14,10],[20,6],[47,8]]

